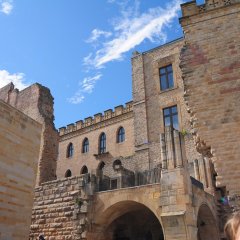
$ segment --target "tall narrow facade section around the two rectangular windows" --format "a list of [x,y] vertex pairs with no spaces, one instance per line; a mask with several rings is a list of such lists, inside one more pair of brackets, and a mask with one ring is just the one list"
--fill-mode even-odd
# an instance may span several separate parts
[[[189,162],[200,158],[190,133],[190,116],[183,99],[183,81],[179,55],[183,39],[139,54],[132,58],[135,158],[140,169],[161,163],[160,134],[164,132],[163,109],[177,105],[180,131],[186,133],[186,154]],[[160,89],[159,69],[172,64],[174,87]]]

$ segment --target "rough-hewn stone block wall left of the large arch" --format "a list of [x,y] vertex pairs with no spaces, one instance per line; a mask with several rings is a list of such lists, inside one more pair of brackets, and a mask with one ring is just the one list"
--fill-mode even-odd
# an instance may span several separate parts
[[29,239],[40,234],[47,240],[86,239],[90,202],[83,177],[41,184],[35,188]]

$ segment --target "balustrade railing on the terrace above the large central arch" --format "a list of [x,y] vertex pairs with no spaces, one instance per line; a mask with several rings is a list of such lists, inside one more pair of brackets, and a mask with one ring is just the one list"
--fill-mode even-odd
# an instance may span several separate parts
[[116,177],[103,176],[97,179],[96,191],[108,191],[120,188],[129,188],[147,184],[160,183],[161,168],[154,168],[143,172],[130,172]]

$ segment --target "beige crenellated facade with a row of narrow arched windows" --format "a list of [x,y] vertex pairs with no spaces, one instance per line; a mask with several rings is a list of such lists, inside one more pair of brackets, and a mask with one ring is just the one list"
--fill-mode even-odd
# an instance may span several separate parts
[[[125,141],[118,143],[117,133],[120,127],[125,130]],[[106,153],[98,154],[99,137],[102,132],[106,134]],[[89,140],[89,152],[83,153],[85,138]],[[74,153],[68,158],[67,148],[70,143],[73,144]],[[101,162],[105,163],[104,174],[109,175],[113,173],[112,163],[117,158],[127,158],[125,167],[133,169],[134,163],[128,158],[133,154],[133,112],[130,102],[126,107],[118,106],[115,111],[107,110],[104,115],[96,114],[94,118],[89,117],[75,125],[60,128],[57,177],[65,177],[68,169],[72,176],[78,176],[83,166],[86,166],[89,172],[96,172]]]

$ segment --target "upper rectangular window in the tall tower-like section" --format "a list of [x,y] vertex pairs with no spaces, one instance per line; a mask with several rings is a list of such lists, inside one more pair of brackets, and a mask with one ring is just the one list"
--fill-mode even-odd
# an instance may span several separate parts
[[172,65],[159,69],[161,90],[167,90],[174,87]]

